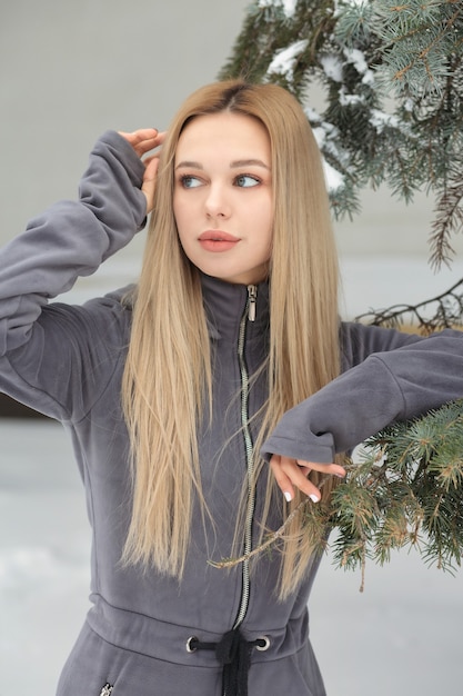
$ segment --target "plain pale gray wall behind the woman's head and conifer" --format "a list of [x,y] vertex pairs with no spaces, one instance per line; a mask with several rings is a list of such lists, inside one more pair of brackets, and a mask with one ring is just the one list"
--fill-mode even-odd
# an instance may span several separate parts
[[[248,0],[1,4],[3,243],[53,201],[76,196],[88,152],[103,130],[164,128],[188,93],[214,80]],[[413,257],[425,269],[432,201],[416,201],[406,208],[387,190],[366,191],[362,215],[335,226],[341,257]],[[460,251],[462,240],[455,243]],[[134,260],[138,251],[127,258]]]

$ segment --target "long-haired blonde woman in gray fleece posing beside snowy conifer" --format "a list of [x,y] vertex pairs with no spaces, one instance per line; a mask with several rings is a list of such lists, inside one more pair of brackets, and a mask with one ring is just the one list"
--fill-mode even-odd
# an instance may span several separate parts
[[[47,304],[151,208],[137,288]],[[319,559],[300,520],[279,553],[208,561],[329,495],[316,476],[344,475],[335,453],[461,397],[463,342],[340,327],[298,102],[223,82],[165,136],[105,133],[80,200],[33,220],[0,268],[0,386],[69,429],[93,534],[92,608],[58,695],[323,695],[306,612]]]

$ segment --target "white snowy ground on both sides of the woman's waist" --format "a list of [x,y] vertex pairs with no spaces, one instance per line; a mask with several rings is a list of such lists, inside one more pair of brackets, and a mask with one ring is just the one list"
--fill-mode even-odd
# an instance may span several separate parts
[[[61,426],[0,420],[0,696],[51,696],[88,607],[81,484]],[[462,574],[403,555],[359,584],[326,559],[313,590],[329,695],[460,694]]]

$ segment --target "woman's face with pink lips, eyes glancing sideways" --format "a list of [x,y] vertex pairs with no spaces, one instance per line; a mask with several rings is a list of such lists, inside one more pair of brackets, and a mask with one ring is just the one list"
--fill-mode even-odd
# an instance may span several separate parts
[[173,213],[183,250],[208,276],[253,285],[268,275],[273,227],[270,139],[254,118],[194,118],[175,152]]

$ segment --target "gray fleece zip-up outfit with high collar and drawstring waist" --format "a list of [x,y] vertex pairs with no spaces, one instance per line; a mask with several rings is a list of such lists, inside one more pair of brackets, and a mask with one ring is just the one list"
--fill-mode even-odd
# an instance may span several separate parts
[[[318,564],[312,563],[300,590],[286,601],[275,598],[275,554],[264,555],[251,578],[242,567],[223,571],[208,565],[231,551],[249,465],[235,395],[266,350],[266,284],[256,288],[251,321],[244,286],[202,277],[214,355],[214,408],[199,443],[214,524],[204,526],[200,515],[194,517],[181,583],[119,563],[131,507],[120,408],[131,311],[120,292],[83,306],[49,299],[71,288],[78,276],[93,272],[143,226],[142,172],[132,148],[115,132],[105,133],[91,153],[79,200],[53,206],[1,252],[0,389],[69,431],[92,528],[92,606],[57,693],[220,696],[222,673],[229,669],[223,669],[223,636],[234,627],[240,630],[234,662],[250,660],[250,696],[323,696],[308,615]],[[264,445],[266,457],[276,453],[332,461],[335,451],[390,421],[463,396],[460,334],[419,339],[355,324],[342,325],[341,331],[344,372],[284,416]],[[264,376],[246,397],[249,416],[265,398]],[[253,435],[251,429],[249,437]],[[251,531],[261,504],[258,486]],[[279,524],[276,514],[272,521]],[[235,687],[228,688],[233,696]]]

